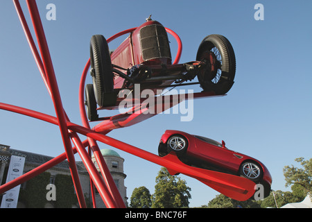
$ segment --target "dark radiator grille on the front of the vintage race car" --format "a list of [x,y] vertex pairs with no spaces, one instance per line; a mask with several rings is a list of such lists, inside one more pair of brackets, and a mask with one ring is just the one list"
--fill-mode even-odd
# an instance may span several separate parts
[[140,42],[144,61],[155,58],[171,59],[168,35],[164,26],[158,24],[144,26],[140,30]]

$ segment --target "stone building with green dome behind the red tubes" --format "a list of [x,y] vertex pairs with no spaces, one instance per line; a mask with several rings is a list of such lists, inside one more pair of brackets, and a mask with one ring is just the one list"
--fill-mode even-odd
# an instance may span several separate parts
[[[114,182],[116,183],[116,187],[119,189],[121,197],[123,198],[126,204],[128,198],[127,198],[126,187],[125,187],[125,182],[124,182],[126,175],[125,173],[123,173],[124,159],[118,153],[116,153],[116,151],[112,151],[110,149],[103,149],[101,150],[101,153],[104,157],[107,167],[110,169],[110,172],[112,173],[112,178],[114,179]],[[31,171],[32,169],[39,167],[41,164],[44,164],[45,162],[48,162],[49,160],[53,159],[53,157],[49,157],[46,155],[40,155],[37,153],[29,153],[26,151],[19,151],[19,150],[10,148],[10,146],[0,144],[0,185],[6,182],[6,174],[8,173],[8,166],[10,164],[11,155],[25,157],[25,164],[24,164],[24,171],[23,171],[24,173]],[[96,168],[98,169],[98,164],[96,163],[96,160],[94,157],[92,157],[92,162],[94,162]],[[76,166],[78,169],[80,183],[81,183],[81,186],[83,187],[83,193],[85,194],[85,196],[87,197],[89,201],[92,201],[91,191],[90,191],[89,173],[85,169],[85,165],[83,164],[83,162],[77,161]],[[51,173],[50,183],[53,184],[55,176],[57,176],[58,174],[64,174],[64,175],[70,176],[69,164],[67,160],[65,160],[61,162],[60,164],[57,164],[51,169],[47,170],[47,172]],[[26,185],[27,185],[27,182],[21,185],[20,189],[24,189]],[[1,200],[1,194],[0,194],[0,200]],[[92,203],[89,203],[89,205],[92,205]],[[17,207],[19,208],[19,207],[27,207],[27,206],[24,203],[21,203],[21,201],[19,201],[19,203],[17,204]],[[51,201],[49,202],[47,200],[45,207],[54,207],[54,206]],[[77,205],[73,205],[73,207],[78,207],[78,203]],[[101,199],[101,196],[99,196],[98,193],[96,193],[96,207],[98,208],[105,207],[103,200]]]

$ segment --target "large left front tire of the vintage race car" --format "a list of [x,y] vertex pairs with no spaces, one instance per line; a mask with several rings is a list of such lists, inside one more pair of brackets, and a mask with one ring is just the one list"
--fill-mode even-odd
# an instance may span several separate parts
[[103,106],[103,94],[114,90],[114,75],[110,51],[103,35],[93,35],[90,41],[91,75],[96,103]]

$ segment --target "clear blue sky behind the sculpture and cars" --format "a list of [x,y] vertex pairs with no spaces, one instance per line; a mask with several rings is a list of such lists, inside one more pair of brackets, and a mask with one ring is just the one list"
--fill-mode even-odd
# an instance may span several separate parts
[[[55,21],[46,19],[48,3],[56,6]],[[254,19],[257,3],[264,6],[263,21]],[[273,178],[272,189],[284,191],[289,188],[284,186],[283,167],[295,164],[296,157],[311,158],[311,1],[42,0],[37,4],[64,109],[73,123],[81,124],[78,86],[89,58],[91,36],[108,38],[139,26],[152,14],[180,35],[180,62],[196,60],[205,36],[227,37],[236,53],[234,86],[227,96],[194,101],[192,121],[180,121],[179,114],[159,114],[109,136],[151,153],[157,153],[166,129],[223,139],[228,148],[266,164]],[[30,22],[24,1],[21,6]],[[0,101],[55,116],[12,1],[1,2],[0,27]],[[123,39],[112,42],[110,49],[116,49]],[[176,50],[171,38],[173,55]],[[87,83],[92,83],[89,76]],[[199,86],[183,89],[201,90]],[[51,156],[64,152],[57,126],[1,110],[0,119],[0,144]],[[110,147],[100,144],[100,148]],[[125,159],[128,197],[140,186],[153,194],[160,167],[116,151]],[[79,160],[78,155],[76,158]],[[192,189],[191,207],[205,205],[218,194],[193,178],[181,177]]]

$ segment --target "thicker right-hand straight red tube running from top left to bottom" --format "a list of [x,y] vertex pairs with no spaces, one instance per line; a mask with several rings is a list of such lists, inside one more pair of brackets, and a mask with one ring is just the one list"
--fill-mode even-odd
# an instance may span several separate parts
[[55,107],[55,112],[58,117],[58,123],[60,127],[60,133],[62,135],[62,141],[67,154],[67,160],[69,162],[69,168],[71,170],[71,177],[73,179],[73,185],[76,189],[76,194],[78,196],[78,201],[81,207],[87,207],[85,204],[85,198],[83,195],[83,189],[80,184],[80,178],[78,176],[78,170],[76,167],[75,157],[73,156],[73,150],[71,147],[71,142],[69,139],[69,132],[66,126],[66,117],[64,114],[62,101],[60,99],[60,92],[58,89],[58,84],[55,78],[55,73],[52,65],[51,56],[49,53],[49,47],[46,42],[46,37],[44,35],[44,30],[42,27],[42,22],[40,19],[40,14],[37,9],[37,3],[35,0],[26,0],[28,10],[31,15],[31,20],[33,22],[33,27],[35,29],[35,34],[37,36],[37,42],[40,48],[40,53],[42,56],[42,62],[44,65],[44,71],[46,74],[47,83],[49,89],[51,89],[52,100]]

